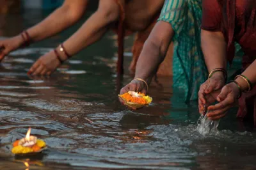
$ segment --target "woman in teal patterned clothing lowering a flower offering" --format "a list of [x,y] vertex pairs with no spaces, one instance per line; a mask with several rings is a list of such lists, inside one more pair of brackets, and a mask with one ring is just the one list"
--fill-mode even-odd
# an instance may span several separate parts
[[200,48],[201,17],[202,0],[166,0],[158,22],[140,54],[134,80],[120,93],[147,93],[148,85],[173,41],[173,68],[169,68],[173,70],[173,95],[178,92],[184,93],[186,101],[197,99],[199,86],[207,78]]

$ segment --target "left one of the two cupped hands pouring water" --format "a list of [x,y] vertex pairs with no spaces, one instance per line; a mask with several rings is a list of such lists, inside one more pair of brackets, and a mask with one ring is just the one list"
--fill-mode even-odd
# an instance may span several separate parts
[[209,103],[209,101],[206,100],[205,95],[217,91],[223,86],[225,86],[225,75],[222,72],[214,73],[210,79],[207,79],[207,81],[200,86],[198,91],[198,109],[200,113],[204,111],[204,105]]

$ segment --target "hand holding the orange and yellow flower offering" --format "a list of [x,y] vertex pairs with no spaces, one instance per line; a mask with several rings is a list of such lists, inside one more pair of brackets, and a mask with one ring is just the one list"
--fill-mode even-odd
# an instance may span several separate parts
[[146,94],[147,86],[145,85],[145,82],[143,82],[143,81],[133,80],[120,90],[120,95],[127,93],[128,91],[136,91],[136,92],[141,92],[141,93]]

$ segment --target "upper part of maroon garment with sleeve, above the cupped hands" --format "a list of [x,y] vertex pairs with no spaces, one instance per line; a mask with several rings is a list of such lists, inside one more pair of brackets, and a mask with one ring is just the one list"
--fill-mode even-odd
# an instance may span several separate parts
[[223,33],[228,44],[228,61],[230,62],[235,54],[235,40],[241,45],[247,56],[255,58],[256,9],[248,6],[246,0],[225,0],[223,4],[218,0],[203,1],[202,29]]

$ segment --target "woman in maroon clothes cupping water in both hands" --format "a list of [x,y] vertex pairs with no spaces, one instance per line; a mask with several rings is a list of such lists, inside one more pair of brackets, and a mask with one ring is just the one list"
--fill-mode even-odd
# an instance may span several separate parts
[[[235,41],[245,54],[243,68],[234,81],[225,84],[227,63],[234,58]],[[200,87],[198,107],[202,112],[205,105],[211,120],[222,118],[239,102],[237,117],[254,116],[256,125],[255,44],[256,1],[203,1],[202,49],[210,73],[209,79]],[[218,104],[211,105],[215,100]]]

